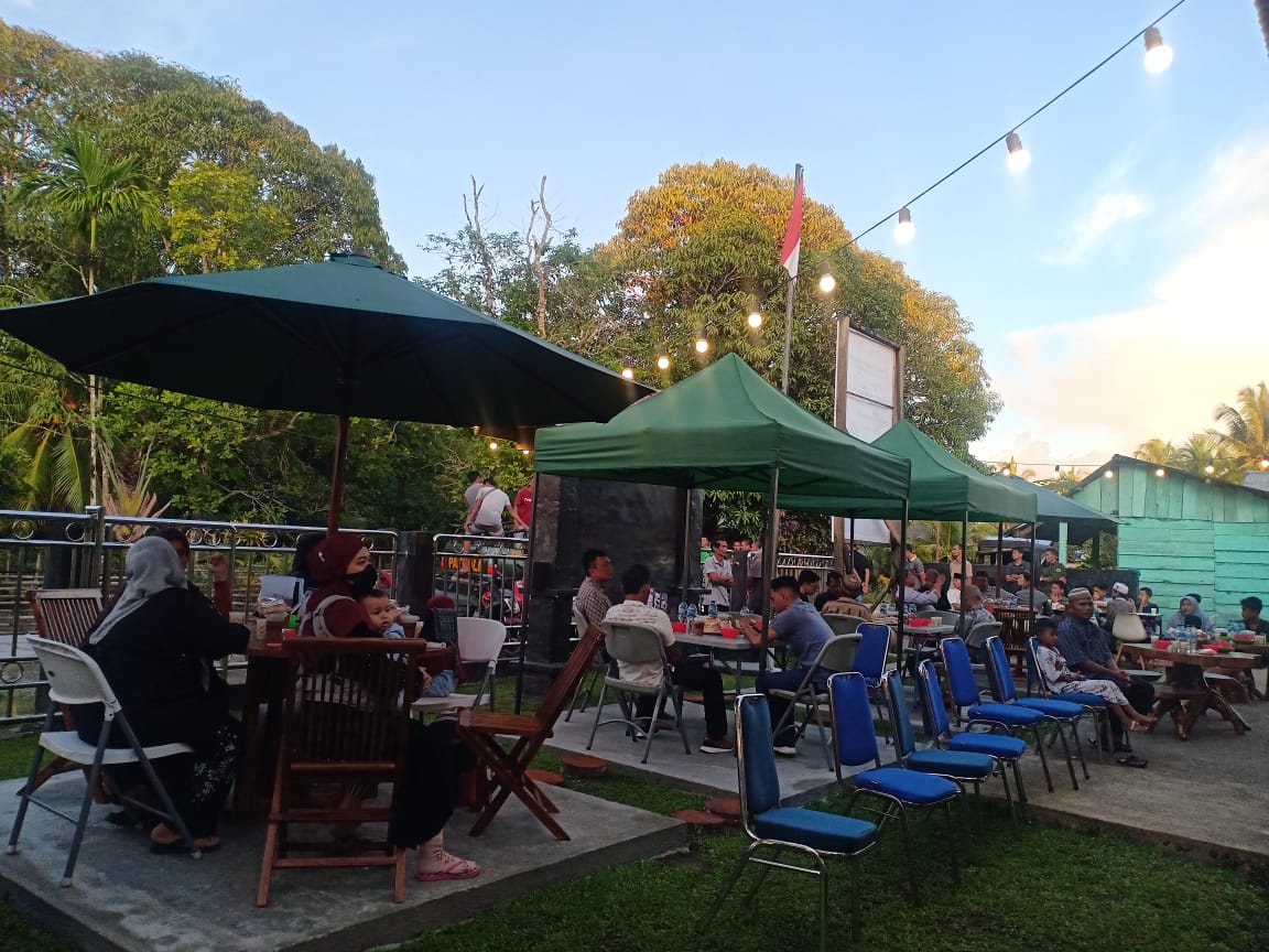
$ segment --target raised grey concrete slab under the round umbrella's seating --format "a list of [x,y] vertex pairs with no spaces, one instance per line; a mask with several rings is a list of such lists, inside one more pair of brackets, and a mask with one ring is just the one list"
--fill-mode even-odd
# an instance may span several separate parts
[[[5,840],[19,786],[19,781],[0,783]],[[63,809],[77,809],[82,788],[77,774],[63,774],[43,790]],[[72,826],[33,807],[22,831],[22,852],[0,854],[0,895],[86,951],[341,952],[402,942],[509,897],[661,856],[685,843],[684,828],[667,817],[567,790],[552,797],[572,836],[565,843],[514,800],[478,838],[466,835],[475,814],[456,814],[447,845],[483,866],[475,880],[411,878],[406,901],[397,905],[391,868],[279,869],[264,909],[255,905],[263,820],[228,824],[223,848],[194,861],[151,856],[145,834],[110,826],[104,820],[108,807],[95,806],[75,883],[61,889]],[[409,863],[412,872],[414,854]]]

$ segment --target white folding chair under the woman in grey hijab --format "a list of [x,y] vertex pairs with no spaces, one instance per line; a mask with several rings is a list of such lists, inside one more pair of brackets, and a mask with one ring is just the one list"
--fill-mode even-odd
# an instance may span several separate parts
[[[133,809],[137,809],[157,816],[180,834],[192,857],[195,859],[202,857],[202,850],[194,845],[194,838],[189,834],[185,821],[180,819],[180,814],[176,812],[168,790],[162,786],[155,774],[154,765],[150,763],[164,757],[189,754],[192,749],[185,744],[141,746],[137,735],[132,731],[132,725],[128,724],[128,718],[123,715],[123,707],[114,697],[114,692],[107,683],[105,675],[98,668],[96,661],[77,647],[71,647],[58,641],[33,635],[28,635],[27,641],[36,650],[36,656],[44,669],[44,677],[48,679],[48,698],[52,703],[48,704],[48,716],[44,718],[44,727],[39,735],[39,746],[36,749],[36,757],[30,764],[30,776],[28,777],[27,787],[19,793],[22,802],[18,806],[18,816],[13,824],[13,833],[9,834],[9,847],[5,852],[10,856],[18,852],[18,836],[22,834],[22,825],[27,819],[27,807],[32,803],[75,824],[71,853],[66,858],[66,871],[62,873],[62,886],[70,886],[71,876],[75,873],[75,862],[79,859],[80,844],[84,842],[84,830],[88,826],[89,809],[93,806],[93,791],[96,790],[98,781],[102,777],[102,767],[105,764],[138,763],[146,774],[146,781],[157,795],[164,809],[157,810],[148,803],[142,803],[127,796],[119,796],[118,798],[124,809],[129,815]],[[102,724],[100,740],[93,745],[80,740],[79,734],[75,731],[52,730],[57,704],[103,704],[105,707],[105,717]],[[127,739],[131,749],[107,746],[110,739],[112,724],[119,726],[119,731]],[[65,760],[90,768],[88,786],[84,790],[84,800],[80,802],[79,816],[72,816],[60,807],[39,800],[34,795],[34,791],[30,791],[30,782],[39,772],[39,764],[43,760],[46,750],[52,751],[56,757]]]

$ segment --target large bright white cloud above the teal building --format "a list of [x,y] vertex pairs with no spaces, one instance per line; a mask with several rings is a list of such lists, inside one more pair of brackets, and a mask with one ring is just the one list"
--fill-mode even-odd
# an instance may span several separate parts
[[1214,425],[1217,404],[1269,377],[1269,137],[1214,160],[1178,220],[1194,244],[1145,305],[1009,335],[1009,366],[992,374],[1008,420],[1043,434],[1063,462],[1184,440]]

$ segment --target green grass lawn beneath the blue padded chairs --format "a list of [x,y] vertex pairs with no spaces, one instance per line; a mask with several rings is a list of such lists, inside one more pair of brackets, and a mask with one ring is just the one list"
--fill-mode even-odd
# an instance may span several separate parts
[[[501,682],[501,679],[500,679]],[[499,684],[499,706],[514,687]],[[29,764],[28,739],[0,741],[0,776]],[[544,751],[539,765],[558,768]],[[632,772],[610,768],[570,787],[669,814],[699,807],[703,797]],[[1095,796],[1090,791],[1090,796]],[[816,805],[841,811],[844,796]],[[863,814],[860,814],[863,815]],[[898,828],[860,857],[860,949],[1051,949],[1063,952],[1260,952],[1269,922],[1269,875],[1200,866],[1187,857],[1115,835],[1042,825],[1013,825],[989,803],[961,882],[952,880],[937,820],[914,824],[924,904],[907,899]],[[815,948],[816,881],[773,871],[746,899],[756,873],[745,875],[708,934],[694,928],[747,840],[736,830],[693,834],[683,854],[609,869],[510,900],[478,919],[420,935],[410,952],[642,952],[642,949]],[[830,938],[850,947],[849,875],[830,867]],[[69,948],[0,902],[0,947],[30,952]]]

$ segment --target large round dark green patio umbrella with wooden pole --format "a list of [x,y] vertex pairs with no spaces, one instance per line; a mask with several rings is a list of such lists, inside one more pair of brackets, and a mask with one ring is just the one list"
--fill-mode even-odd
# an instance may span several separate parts
[[524,430],[607,420],[651,392],[359,255],[151,278],[0,310],[0,330],[67,368],[268,410]]

